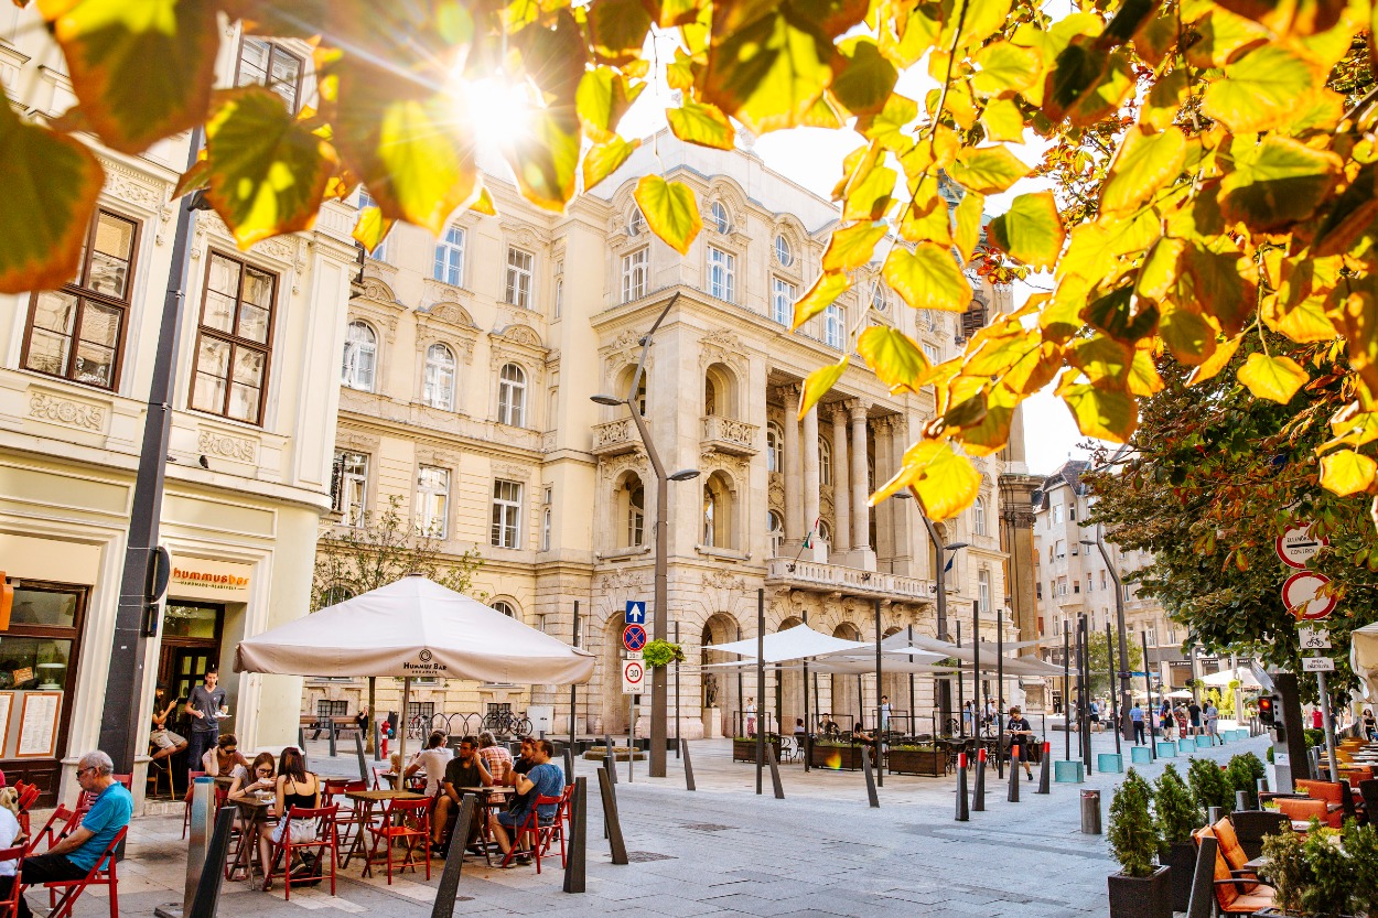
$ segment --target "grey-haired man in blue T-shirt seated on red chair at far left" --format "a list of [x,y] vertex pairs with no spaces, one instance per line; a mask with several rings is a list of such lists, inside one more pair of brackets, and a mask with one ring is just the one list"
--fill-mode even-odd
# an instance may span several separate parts
[[[95,802],[81,817],[72,834],[43,855],[23,859],[23,885],[40,886],[58,879],[81,879],[95,867],[106,845],[130,824],[134,797],[110,775],[114,762],[105,753],[87,753],[77,762],[77,783],[81,790],[95,794]],[[32,918],[29,903],[19,896],[17,918]]]

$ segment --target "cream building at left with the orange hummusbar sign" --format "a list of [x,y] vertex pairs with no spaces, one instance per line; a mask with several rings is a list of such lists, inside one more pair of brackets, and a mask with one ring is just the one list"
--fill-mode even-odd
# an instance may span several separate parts
[[[52,116],[72,91],[30,6],[0,8],[0,79]],[[309,50],[222,44],[222,85],[273,74],[292,105]],[[76,793],[96,746],[134,477],[169,273],[189,135],[143,156],[96,149],[106,181],[81,273],[62,291],[0,296],[0,569],[15,612],[0,631],[0,768],[45,799]],[[300,680],[236,675],[245,634],[307,609],[314,542],[329,510],[344,307],[357,274],[354,211],[240,252],[212,214],[190,237],[175,365],[161,542],[174,572],[145,682],[128,699],[149,731],[154,681],[186,696],[218,663],[241,747],[295,742]],[[233,367],[233,379],[229,367]],[[32,724],[23,713],[33,714]],[[185,733],[183,728],[175,728]],[[181,766],[181,762],[178,762]],[[142,793],[136,773],[135,791]]]

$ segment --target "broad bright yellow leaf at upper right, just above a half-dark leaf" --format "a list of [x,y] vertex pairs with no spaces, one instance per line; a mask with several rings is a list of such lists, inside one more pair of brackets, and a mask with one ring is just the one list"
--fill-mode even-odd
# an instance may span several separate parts
[[1206,87],[1202,112],[1235,134],[1266,131],[1286,120],[1297,99],[1320,84],[1306,59],[1277,45],[1264,44],[1232,63]]

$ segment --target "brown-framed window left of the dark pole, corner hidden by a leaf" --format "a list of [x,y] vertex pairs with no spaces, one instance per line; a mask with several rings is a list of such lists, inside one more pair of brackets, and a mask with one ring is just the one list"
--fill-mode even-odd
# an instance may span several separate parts
[[99,211],[81,247],[77,276],[34,294],[22,365],[50,376],[114,389],[134,285],[139,225]]

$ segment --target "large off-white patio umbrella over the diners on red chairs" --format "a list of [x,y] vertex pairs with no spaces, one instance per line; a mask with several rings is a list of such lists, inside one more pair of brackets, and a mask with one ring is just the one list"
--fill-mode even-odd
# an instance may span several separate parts
[[412,575],[244,638],[234,651],[234,671],[401,678],[398,751],[405,761],[412,677],[583,684],[593,677],[594,660],[587,651]]

